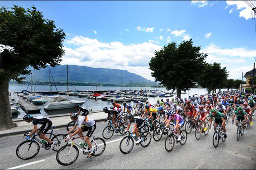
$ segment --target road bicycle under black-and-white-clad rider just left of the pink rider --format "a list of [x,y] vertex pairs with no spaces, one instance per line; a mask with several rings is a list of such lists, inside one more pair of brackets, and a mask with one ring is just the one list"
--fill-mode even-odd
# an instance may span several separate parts
[[[123,154],[130,153],[134,147],[134,140],[135,141],[138,140],[138,138],[136,138],[137,136],[132,135],[132,131],[125,130],[125,132],[129,132],[129,134],[123,137],[119,144],[119,149]],[[151,142],[150,132],[149,131],[142,132],[141,129],[139,129],[139,133],[140,133],[141,142],[136,143],[136,145],[141,144],[142,147],[147,147]]]

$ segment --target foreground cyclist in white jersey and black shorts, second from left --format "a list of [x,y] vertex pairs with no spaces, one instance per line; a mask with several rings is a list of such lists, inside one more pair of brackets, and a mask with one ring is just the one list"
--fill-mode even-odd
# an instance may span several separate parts
[[[83,132],[88,131],[85,137],[85,142],[88,145],[88,151],[89,151],[87,158],[91,158],[93,153],[93,148],[90,142],[90,137],[92,136],[94,130],[96,129],[95,121],[93,119],[88,118],[88,116],[78,116],[78,113],[72,113],[70,115],[70,118],[71,120],[76,121],[76,123],[75,123],[75,126],[72,127],[72,129],[64,135],[66,137],[65,140],[68,141],[71,137],[75,136],[76,134],[78,134],[81,137],[81,139],[84,140],[84,137],[82,137],[84,136]],[[77,126],[78,126],[78,129],[74,133],[69,135],[73,130],[77,128]]]

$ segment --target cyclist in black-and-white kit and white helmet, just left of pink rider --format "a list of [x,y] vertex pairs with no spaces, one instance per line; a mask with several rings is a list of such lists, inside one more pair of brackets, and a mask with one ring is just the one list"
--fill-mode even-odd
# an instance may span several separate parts
[[135,143],[140,143],[141,142],[141,138],[140,138],[139,129],[142,127],[142,124],[144,123],[145,120],[143,118],[139,117],[139,116],[134,116],[134,114],[128,115],[127,118],[129,118],[130,123],[127,126],[126,130],[129,130],[132,122],[134,122],[135,125],[134,125],[134,129],[133,129],[132,135],[135,136],[135,134],[136,134],[138,136],[138,140]]

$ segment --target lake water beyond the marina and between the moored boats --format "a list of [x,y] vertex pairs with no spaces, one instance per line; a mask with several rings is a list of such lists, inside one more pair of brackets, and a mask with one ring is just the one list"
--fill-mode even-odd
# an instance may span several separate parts
[[[65,91],[67,90],[67,86],[56,86],[58,91]],[[121,87],[95,87],[95,86],[70,86],[69,90],[78,90],[78,91],[87,91],[87,90],[120,90]],[[131,87],[132,90],[138,90],[138,89],[144,89],[145,87]],[[32,86],[32,90],[31,90],[31,86],[27,86],[27,85],[10,85],[9,86],[9,91],[10,92],[21,92],[22,90],[28,90],[28,91],[32,91],[34,92],[34,86]],[[122,87],[122,90],[129,90],[130,87]],[[146,87],[146,90],[166,90],[165,88],[153,88],[153,87]],[[226,89],[222,89],[222,90],[226,90]],[[35,92],[48,92],[50,91],[49,86],[35,86]],[[55,86],[52,87],[51,91],[56,91]],[[206,94],[207,91],[204,88],[193,88],[190,89],[188,91],[186,91],[186,94],[182,94],[181,98],[188,98],[188,96],[192,96],[194,94],[198,94],[198,95],[203,95]],[[67,97],[67,95],[62,95],[64,97]],[[173,97],[169,97],[169,99],[171,100],[171,98],[174,98],[176,95],[174,95]],[[103,101],[103,100],[94,100],[94,99],[88,99],[88,98],[79,98],[77,96],[70,96],[70,99],[78,99],[78,100],[84,100],[85,103],[83,104],[83,107],[89,109],[92,109],[93,111],[96,110],[102,110],[104,107],[110,107],[111,106],[111,102],[110,101]],[[148,101],[151,104],[155,104],[157,102],[157,99],[163,99],[164,101],[166,101],[166,97],[148,97]],[[131,101],[131,102],[127,102],[128,104],[135,104],[135,102]],[[121,104],[121,103],[119,103]],[[33,114],[34,116],[39,116],[39,115],[50,115],[50,114],[62,114],[62,113],[71,113],[74,112],[75,109],[63,109],[63,110],[54,110],[54,111],[45,111],[43,106],[38,106],[40,108],[40,113],[38,114]],[[19,114],[15,114],[13,115],[13,118],[22,118],[26,113],[19,108]]]

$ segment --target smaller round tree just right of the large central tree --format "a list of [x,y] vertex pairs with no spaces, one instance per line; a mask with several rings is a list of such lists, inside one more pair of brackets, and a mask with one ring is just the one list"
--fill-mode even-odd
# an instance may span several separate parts
[[206,63],[202,68],[199,84],[203,88],[207,88],[208,94],[210,94],[212,90],[223,88],[227,77],[226,67],[221,68],[221,64],[216,62],[213,64]]

